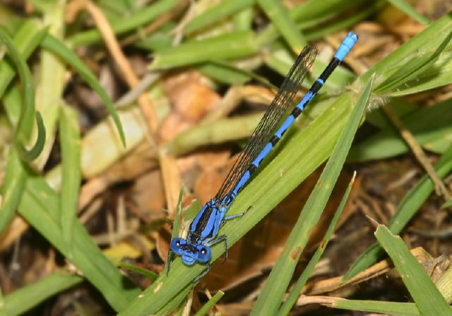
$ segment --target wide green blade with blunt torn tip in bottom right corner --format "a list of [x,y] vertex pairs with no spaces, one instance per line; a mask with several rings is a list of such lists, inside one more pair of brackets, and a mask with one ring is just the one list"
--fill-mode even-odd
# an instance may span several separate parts
[[422,315],[452,315],[451,308],[402,238],[379,225],[376,239],[386,250]]

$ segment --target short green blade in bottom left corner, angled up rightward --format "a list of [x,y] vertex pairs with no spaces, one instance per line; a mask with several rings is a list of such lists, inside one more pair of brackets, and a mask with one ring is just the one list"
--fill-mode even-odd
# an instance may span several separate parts
[[4,310],[8,316],[23,315],[31,308],[47,300],[47,298],[76,286],[82,281],[83,278],[78,275],[59,270],[40,281],[19,288],[5,296],[5,302],[1,310]]

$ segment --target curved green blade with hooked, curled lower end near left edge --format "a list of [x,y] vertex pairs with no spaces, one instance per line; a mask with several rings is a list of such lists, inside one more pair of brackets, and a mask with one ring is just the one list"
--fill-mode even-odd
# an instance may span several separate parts
[[[15,44],[11,37],[9,37],[8,32],[6,32],[5,28],[0,26],[0,40],[4,42],[6,48],[8,49],[8,55],[13,60],[13,63],[16,65],[20,82],[23,87],[23,102],[22,102],[22,111],[20,114],[20,119],[18,122],[18,126],[16,127],[16,133],[14,136],[16,145],[18,147],[18,152],[20,156],[26,161],[30,162],[35,159],[39,154],[40,150],[42,150],[44,142],[42,140],[42,133],[45,132],[44,124],[42,123],[42,119],[40,119],[40,115],[36,116],[36,123],[38,126],[38,135],[37,142],[33,146],[34,148],[30,151],[25,149],[25,142],[28,142],[32,133],[33,121],[35,120],[35,85],[33,85],[32,75],[30,69],[25,63],[25,60],[20,56],[20,53],[16,49]],[[45,139],[45,136],[44,136]]]

